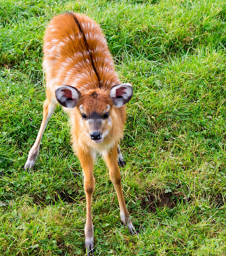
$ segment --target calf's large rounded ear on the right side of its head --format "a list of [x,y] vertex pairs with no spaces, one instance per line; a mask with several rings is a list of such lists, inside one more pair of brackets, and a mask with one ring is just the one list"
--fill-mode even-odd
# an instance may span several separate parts
[[110,98],[113,104],[119,108],[130,101],[133,96],[133,87],[131,84],[117,84],[110,90]]

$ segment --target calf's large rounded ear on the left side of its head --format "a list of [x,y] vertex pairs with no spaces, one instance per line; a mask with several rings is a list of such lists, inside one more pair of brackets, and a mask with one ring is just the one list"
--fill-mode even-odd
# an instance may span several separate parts
[[59,104],[66,108],[74,108],[78,103],[81,93],[75,87],[61,85],[57,87],[55,95]]

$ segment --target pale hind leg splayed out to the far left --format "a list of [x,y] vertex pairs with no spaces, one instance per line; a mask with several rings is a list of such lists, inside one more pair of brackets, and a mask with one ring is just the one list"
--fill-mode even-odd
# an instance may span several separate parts
[[39,146],[40,146],[41,138],[43,136],[43,132],[45,130],[47,122],[53,115],[53,112],[54,112],[56,106],[57,106],[57,103],[51,102],[49,100],[44,101],[43,119],[41,122],[41,127],[39,129],[35,143],[28,154],[28,160],[27,160],[26,164],[24,165],[24,170],[29,170],[29,169],[33,168],[33,166],[35,165],[35,160],[37,159],[37,156],[39,153]]

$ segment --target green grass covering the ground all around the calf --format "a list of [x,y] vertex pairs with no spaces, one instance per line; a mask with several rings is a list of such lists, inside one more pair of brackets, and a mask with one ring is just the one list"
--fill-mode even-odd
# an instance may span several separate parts
[[95,255],[226,255],[225,1],[0,0],[0,6],[0,255],[85,253],[82,171],[60,107],[33,172],[22,169],[42,119],[43,33],[66,10],[101,25],[122,82],[134,86],[121,173],[139,235],[122,226],[98,158]]

